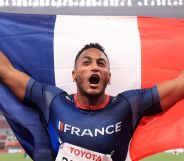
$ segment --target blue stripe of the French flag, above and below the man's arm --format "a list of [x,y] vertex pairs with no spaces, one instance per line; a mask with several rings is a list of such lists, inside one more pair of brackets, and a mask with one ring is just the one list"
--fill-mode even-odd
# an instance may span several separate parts
[[[55,16],[0,14],[0,50],[16,68],[49,84],[55,84],[54,22]],[[36,161],[53,160],[39,111],[19,102],[3,84],[0,93],[0,109],[26,152]]]

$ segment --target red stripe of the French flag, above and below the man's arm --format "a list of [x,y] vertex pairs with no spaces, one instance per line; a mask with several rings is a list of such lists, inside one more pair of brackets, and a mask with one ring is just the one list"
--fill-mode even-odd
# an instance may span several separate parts
[[[184,69],[184,20],[138,18],[141,39],[142,87],[175,78]],[[165,113],[145,117],[134,133],[133,161],[184,147],[184,101]]]

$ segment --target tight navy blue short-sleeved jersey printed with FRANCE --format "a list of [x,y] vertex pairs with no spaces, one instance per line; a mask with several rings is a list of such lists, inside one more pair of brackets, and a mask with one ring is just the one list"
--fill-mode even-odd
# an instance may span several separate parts
[[47,123],[55,155],[67,142],[103,154],[113,161],[126,158],[136,125],[144,115],[161,112],[156,86],[111,97],[102,110],[81,110],[65,91],[31,79],[25,101],[40,107]]

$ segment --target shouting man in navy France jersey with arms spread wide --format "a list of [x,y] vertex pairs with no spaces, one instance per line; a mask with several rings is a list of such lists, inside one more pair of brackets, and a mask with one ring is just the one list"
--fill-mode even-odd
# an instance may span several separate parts
[[85,45],[72,72],[77,93],[36,82],[0,53],[0,78],[27,103],[36,103],[47,122],[56,161],[125,160],[136,125],[144,115],[166,111],[184,97],[184,74],[149,89],[105,94],[109,59],[99,44]]

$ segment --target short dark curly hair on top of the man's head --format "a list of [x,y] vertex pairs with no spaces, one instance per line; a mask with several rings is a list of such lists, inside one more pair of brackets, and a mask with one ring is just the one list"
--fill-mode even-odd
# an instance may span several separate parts
[[84,45],[84,47],[77,53],[77,55],[75,57],[75,65],[76,65],[77,59],[82,54],[82,52],[87,50],[87,49],[91,49],[91,48],[96,48],[96,49],[100,50],[101,52],[103,52],[109,61],[109,58],[108,58],[107,54],[105,53],[105,49],[103,46],[101,46],[99,43],[89,43],[89,44]]

